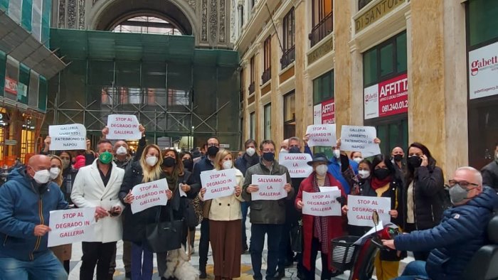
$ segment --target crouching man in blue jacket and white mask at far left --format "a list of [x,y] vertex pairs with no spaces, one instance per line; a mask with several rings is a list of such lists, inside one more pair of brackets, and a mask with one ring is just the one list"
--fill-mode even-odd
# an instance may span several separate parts
[[50,211],[68,208],[50,169],[48,156],[32,156],[0,187],[0,279],[68,279],[47,248]]

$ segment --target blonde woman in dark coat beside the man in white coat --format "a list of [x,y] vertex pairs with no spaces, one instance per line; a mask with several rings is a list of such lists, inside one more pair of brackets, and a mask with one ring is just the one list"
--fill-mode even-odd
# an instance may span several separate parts
[[[139,161],[132,163],[131,168],[124,173],[120,190],[120,199],[123,203],[131,205],[134,197],[132,188],[141,183],[157,181],[165,175],[161,168],[162,156],[159,146],[151,144],[145,147]],[[166,192],[168,199],[171,191]],[[152,252],[145,242],[145,227],[154,222],[157,206],[132,214],[131,207],[124,208],[123,240],[132,242],[132,279],[152,279],[153,259]],[[142,262],[143,256],[143,262]]]

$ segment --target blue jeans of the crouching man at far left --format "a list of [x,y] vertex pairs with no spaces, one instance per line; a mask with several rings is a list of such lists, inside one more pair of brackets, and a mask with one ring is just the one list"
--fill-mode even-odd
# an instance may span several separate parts
[[68,274],[52,251],[36,257],[32,262],[24,262],[9,257],[0,257],[0,279],[16,280],[67,280]]

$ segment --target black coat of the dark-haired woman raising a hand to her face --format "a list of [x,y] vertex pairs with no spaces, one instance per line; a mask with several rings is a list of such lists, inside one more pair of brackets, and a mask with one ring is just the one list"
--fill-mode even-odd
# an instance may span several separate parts
[[[408,198],[407,182],[404,198]],[[413,180],[413,214],[417,230],[427,230],[439,224],[445,210],[443,171],[437,166],[420,166]],[[406,201],[404,203],[406,213]],[[405,220],[406,221],[406,220]],[[403,226],[403,228],[406,228]]]

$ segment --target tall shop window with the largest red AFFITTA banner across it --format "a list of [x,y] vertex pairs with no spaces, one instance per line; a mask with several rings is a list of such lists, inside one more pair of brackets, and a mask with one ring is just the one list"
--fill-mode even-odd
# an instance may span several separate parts
[[364,62],[364,124],[375,126],[381,151],[408,145],[406,32],[367,50]]

